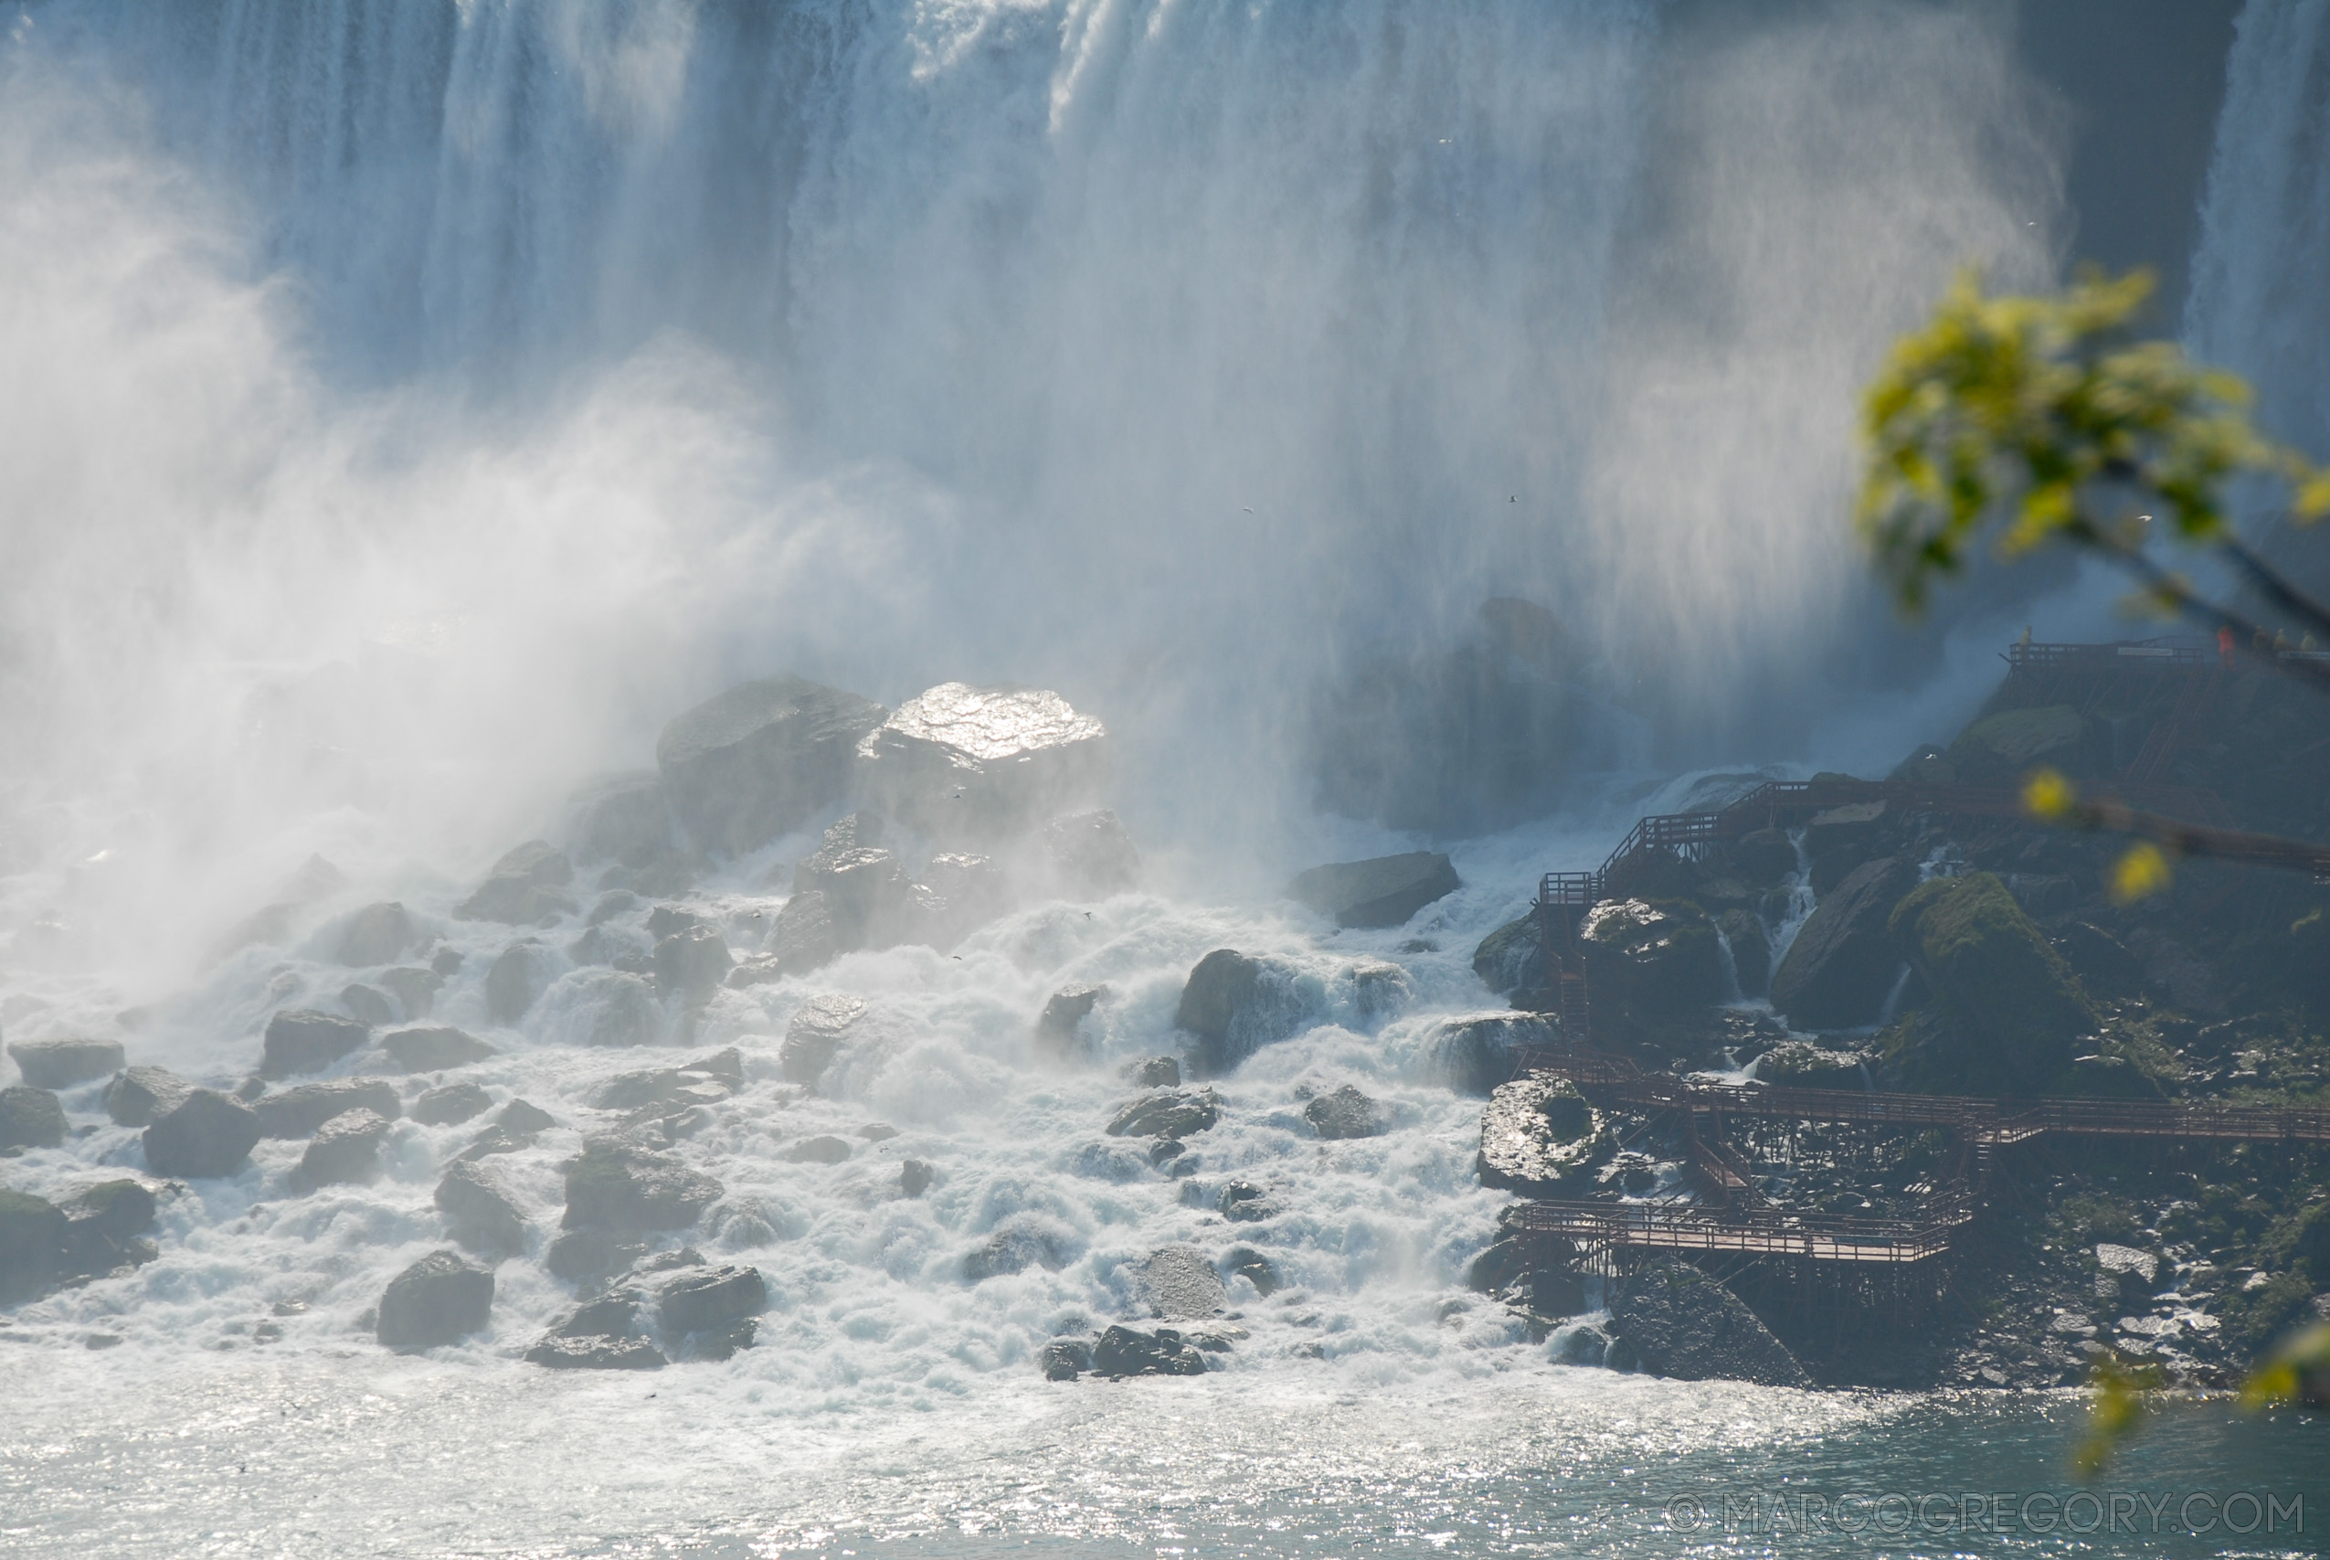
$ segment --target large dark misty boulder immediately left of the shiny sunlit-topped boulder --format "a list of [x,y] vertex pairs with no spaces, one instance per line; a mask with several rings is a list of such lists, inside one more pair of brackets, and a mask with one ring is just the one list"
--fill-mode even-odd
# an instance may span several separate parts
[[655,765],[690,837],[741,856],[839,802],[857,744],[881,718],[881,704],[855,693],[769,676],[676,716]]

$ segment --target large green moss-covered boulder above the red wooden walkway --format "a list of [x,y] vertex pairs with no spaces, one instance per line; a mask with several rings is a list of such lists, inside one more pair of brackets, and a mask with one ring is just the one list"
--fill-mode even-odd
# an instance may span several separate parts
[[1962,1066],[1932,1070],[1936,1082],[2032,1091],[2071,1063],[2078,1035],[2097,1028],[2071,965],[1990,872],[1922,884],[1894,907],[1890,926],[1967,1047]]

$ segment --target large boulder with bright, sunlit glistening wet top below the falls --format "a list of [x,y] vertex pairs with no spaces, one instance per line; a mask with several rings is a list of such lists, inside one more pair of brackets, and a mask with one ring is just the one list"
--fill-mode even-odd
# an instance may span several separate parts
[[857,744],[867,790],[932,839],[1002,839],[1097,800],[1109,732],[1044,688],[939,683]]

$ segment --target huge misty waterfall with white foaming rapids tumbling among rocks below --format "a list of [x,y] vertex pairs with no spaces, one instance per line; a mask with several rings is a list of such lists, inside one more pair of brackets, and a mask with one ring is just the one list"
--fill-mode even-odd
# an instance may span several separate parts
[[[475,1082],[557,1126],[496,1157],[531,1231],[492,1327],[433,1359],[366,1324],[445,1241],[431,1187],[475,1133],[410,1112],[373,1185],[303,1192],[301,1145],[261,1143],[163,1199],[156,1262],[9,1310],[35,1450],[0,1464],[0,1548],[23,1523],[142,1553],[135,1513],[168,1511],[165,1544],[198,1523],[219,1553],[1188,1527],[1349,1553],[1470,1530],[1466,1464],[1512,1537],[1568,1541],[1587,1506],[1531,1469],[1703,1476],[1899,1413],[1561,1371],[1466,1290],[1505,1199],[1477,1101],[1433,1073],[1440,1019],[1489,1000],[1475,942],[1617,809],[1456,844],[1468,886],[1405,928],[1270,891],[1412,844],[1307,816],[1286,751],[1370,639],[1533,597],[1650,753],[1689,746],[1673,711],[1824,665],[1859,590],[1850,385],[1957,261],[2050,254],[1994,16],[1871,5],[1689,49],[1626,0],[7,16],[0,1026],[233,1087],[273,1010],[354,979],[343,916],[401,900],[447,956],[433,1019],[496,1049]],[[485,863],[778,667],[888,704],[1058,686],[1118,737],[1146,891],[725,991],[645,1054],[573,1045],[606,1017],[578,905],[524,933],[541,1005],[496,1019],[510,933],[452,916]],[[741,940],[813,846],[727,863],[697,907]],[[312,853],[340,898],[221,956]],[[645,907],[610,914],[634,935]],[[1214,947],[1282,961],[1302,1010],[1167,1178],[1104,1124],[1123,1063],[1181,1049]],[[1109,991],[1083,1066],[1032,1033],[1067,984]],[[869,1028],[811,1094],[778,1038],[834,993]],[[638,1021],[683,1038],[676,1005]],[[685,1241],[767,1276],[760,1343],[652,1380],[520,1364],[576,1303],[543,1252],[589,1101],[725,1045],[739,1089],[673,1152],[722,1185]],[[1309,1126],[1344,1082],[1384,1136]],[[91,1131],[7,1185],[140,1168],[96,1084],[65,1105]],[[825,1138],[846,1159],[795,1152]],[[1230,1220],[1233,1182],[1270,1217]],[[1037,1376],[1055,1334],[1146,1324],[1135,1269],[1181,1243],[1279,1278],[1233,1276],[1212,1376]],[[1386,1455],[1358,1392],[1412,1446]],[[182,1425],[198,1455],[140,1450]],[[1361,1516],[1321,1520],[1347,1492]],[[1629,1499],[1659,1520],[1650,1483]]]

